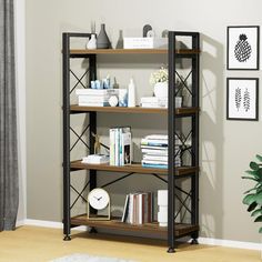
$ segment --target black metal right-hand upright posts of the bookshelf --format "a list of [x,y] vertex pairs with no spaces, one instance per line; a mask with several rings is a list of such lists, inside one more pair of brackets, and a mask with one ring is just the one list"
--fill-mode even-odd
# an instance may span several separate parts
[[[168,133],[169,133],[169,173],[168,173],[168,244],[169,253],[174,252],[175,248],[175,82],[177,78],[182,80],[177,72],[175,61],[178,58],[192,59],[192,107],[199,107],[199,53],[185,54],[177,52],[177,42],[179,37],[191,37],[192,49],[199,50],[199,33],[198,32],[169,32],[169,113],[168,113]],[[190,75],[190,74],[189,74]],[[189,77],[188,75],[188,77]],[[187,77],[187,78],[188,78]],[[192,114],[192,153],[191,163],[199,167],[199,113]],[[191,223],[199,223],[199,172],[191,175]],[[188,196],[187,196],[188,198]],[[192,243],[198,243],[199,232],[192,233]]]

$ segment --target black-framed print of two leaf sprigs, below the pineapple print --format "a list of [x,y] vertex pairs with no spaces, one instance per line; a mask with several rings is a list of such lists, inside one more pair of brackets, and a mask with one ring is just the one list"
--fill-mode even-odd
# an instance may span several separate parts
[[253,121],[259,119],[258,78],[226,79],[226,119]]

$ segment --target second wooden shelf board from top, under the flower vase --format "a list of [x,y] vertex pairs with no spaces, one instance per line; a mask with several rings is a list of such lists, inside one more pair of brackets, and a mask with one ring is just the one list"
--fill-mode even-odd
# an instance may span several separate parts
[[[72,104],[71,112],[105,112],[105,113],[168,113],[167,108],[123,108],[123,107],[81,107]],[[199,108],[178,108],[175,114],[193,114],[199,112]]]

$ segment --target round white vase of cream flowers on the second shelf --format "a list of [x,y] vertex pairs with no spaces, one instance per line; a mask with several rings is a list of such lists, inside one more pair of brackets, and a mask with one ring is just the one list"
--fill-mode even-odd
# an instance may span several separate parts
[[154,87],[153,92],[158,98],[168,98],[169,93],[169,72],[168,69],[161,67],[158,71],[151,73],[150,83]]

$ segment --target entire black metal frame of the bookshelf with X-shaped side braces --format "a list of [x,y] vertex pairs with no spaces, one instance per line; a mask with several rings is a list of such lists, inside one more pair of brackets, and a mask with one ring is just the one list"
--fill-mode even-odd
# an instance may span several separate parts
[[[63,33],[63,233],[64,240],[70,240],[71,228],[71,209],[79,199],[87,201],[83,196],[84,190],[89,187],[90,190],[97,187],[97,171],[90,170],[90,179],[84,184],[81,191],[77,190],[70,181],[70,172],[77,171],[78,169],[70,168],[70,152],[74,148],[74,145],[81,141],[89,148],[90,153],[93,153],[93,144],[94,139],[91,135],[91,132],[97,132],[97,112],[88,112],[89,113],[89,125],[84,128],[81,134],[78,134],[70,127],[70,114],[75,113],[87,113],[87,112],[71,112],[70,111],[70,94],[74,90],[78,84],[81,84],[85,88],[81,80],[84,75],[89,73],[89,80],[97,79],[97,57],[95,54],[70,54],[70,40],[72,38],[89,38],[90,33]],[[177,39],[178,37],[190,37],[192,38],[192,49],[199,50],[199,33],[196,32],[169,32],[169,110],[168,110],[168,134],[169,134],[169,167],[168,167],[168,179],[163,179],[161,175],[157,173],[152,173],[153,177],[159,179],[160,181],[168,183],[169,191],[169,209],[168,209],[168,252],[174,252],[175,248],[175,223],[178,214],[181,212],[182,208],[184,208],[184,212],[189,212],[191,214],[191,223],[199,223],[199,171],[195,171],[191,174],[183,175],[182,178],[187,178],[191,180],[191,189],[189,192],[182,190],[177,185],[177,179],[180,177],[175,177],[177,167],[175,167],[175,157],[178,152],[175,152],[175,148],[171,147],[175,144],[175,127],[177,127],[177,117],[175,117],[175,80],[180,79],[183,82],[185,89],[190,92],[192,97],[192,107],[199,107],[199,53],[179,53],[175,52],[177,49]],[[88,58],[89,59],[89,69],[78,78],[70,69],[70,59],[71,58]],[[177,59],[191,59],[192,61],[192,70],[183,80],[180,74],[177,72],[175,61]],[[77,84],[70,90],[70,73],[74,75],[77,79]],[[185,81],[191,75],[192,78],[192,88],[191,90],[187,87]],[[182,151],[189,151],[191,153],[191,165],[199,167],[199,112],[185,115],[179,115],[179,118],[191,118],[191,131],[185,135],[184,139],[180,138],[182,142]],[[89,130],[89,145],[82,140],[82,135],[84,132]],[[77,135],[77,142],[70,149],[70,131]],[[179,134],[177,134],[179,137]],[[185,142],[191,137],[192,144],[191,147],[185,147]],[[123,174],[122,177],[102,184],[101,187],[108,187],[112,183],[121,181],[130,175],[134,174],[134,172],[129,172]],[[78,196],[70,205],[70,189],[72,189]],[[184,194],[185,198],[180,198],[178,193]],[[181,206],[178,209],[175,214],[175,199],[181,203]],[[191,206],[189,208],[187,202],[191,200]],[[198,243],[198,231],[191,233],[192,243]],[[180,235],[181,236],[181,235]]]

